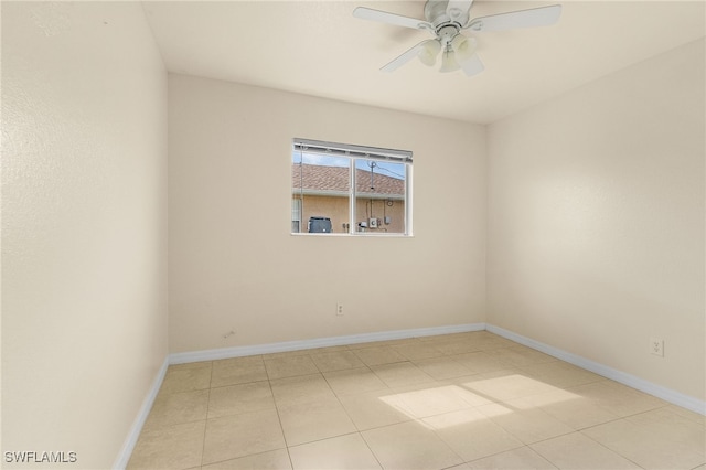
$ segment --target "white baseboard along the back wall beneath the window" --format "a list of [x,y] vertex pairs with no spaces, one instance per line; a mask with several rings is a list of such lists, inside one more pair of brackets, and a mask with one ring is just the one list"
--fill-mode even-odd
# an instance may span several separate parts
[[367,343],[372,341],[402,340],[407,338],[432,337],[435,334],[464,333],[483,331],[485,323],[468,323],[448,327],[430,327],[413,330],[379,331],[374,333],[351,334],[346,337],[317,338],[312,340],[286,341],[281,343],[256,344],[249,346],[222,348],[216,350],[172,353],[170,364],[215,361],[220,359],[242,357],[256,354],[271,354],[286,351],[299,351],[314,348],[340,346],[345,344]]

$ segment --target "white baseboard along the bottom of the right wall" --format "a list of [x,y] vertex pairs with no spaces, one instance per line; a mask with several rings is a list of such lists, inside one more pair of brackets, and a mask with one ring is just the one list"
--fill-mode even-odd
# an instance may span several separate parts
[[629,387],[639,389],[640,392],[644,392],[652,396],[656,396],[657,398],[662,398],[665,402],[681,406],[682,408],[686,408],[688,410],[698,413],[700,415],[706,415],[706,402],[704,400],[694,398],[688,395],[684,395],[683,393],[663,387],[662,385],[657,385],[652,382],[648,382],[643,378],[637,377],[634,375],[628,374],[622,371],[618,371],[607,365],[599,364],[593,361],[589,361],[579,355],[571,354],[569,352],[559,350],[548,344],[544,344],[539,341],[535,341],[531,338],[523,337],[521,334],[514,333],[512,331],[505,330],[500,327],[489,324],[486,325],[485,329],[491,333],[495,333],[500,337],[506,338],[516,343],[524,344],[525,346],[541,351],[545,354],[549,354],[550,356],[560,359],[561,361],[568,362],[569,364],[574,364],[578,367],[593,372],[598,375],[602,375],[606,378],[610,378],[623,385],[628,385]]

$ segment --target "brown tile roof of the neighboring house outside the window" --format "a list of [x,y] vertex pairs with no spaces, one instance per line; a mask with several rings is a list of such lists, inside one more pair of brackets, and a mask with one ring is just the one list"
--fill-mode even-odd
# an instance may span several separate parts
[[[292,163],[291,165],[292,189],[347,191],[349,180],[347,168],[300,163]],[[359,194],[405,194],[405,180],[381,173],[373,174],[374,188],[371,189],[371,172],[368,170],[355,170],[355,185]]]

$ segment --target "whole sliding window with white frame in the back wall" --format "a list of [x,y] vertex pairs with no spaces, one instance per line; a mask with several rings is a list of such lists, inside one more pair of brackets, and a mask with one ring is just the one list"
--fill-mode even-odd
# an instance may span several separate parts
[[411,152],[295,139],[291,232],[411,234]]

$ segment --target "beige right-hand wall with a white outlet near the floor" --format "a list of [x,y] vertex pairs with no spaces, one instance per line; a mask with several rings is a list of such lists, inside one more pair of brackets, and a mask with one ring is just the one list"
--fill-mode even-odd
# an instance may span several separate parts
[[705,398],[704,83],[702,40],[489,127],[490,323]]

